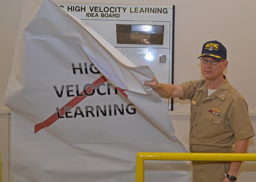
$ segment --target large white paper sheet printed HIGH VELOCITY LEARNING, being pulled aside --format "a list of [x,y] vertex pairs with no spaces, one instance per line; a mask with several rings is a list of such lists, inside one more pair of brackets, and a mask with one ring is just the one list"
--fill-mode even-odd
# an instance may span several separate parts
[[[186,152],[152,78],[50,0],[26,0],[6,93],[15,182],[135,181],[137,152]],[[178,163],[162,181],[190,181]]]

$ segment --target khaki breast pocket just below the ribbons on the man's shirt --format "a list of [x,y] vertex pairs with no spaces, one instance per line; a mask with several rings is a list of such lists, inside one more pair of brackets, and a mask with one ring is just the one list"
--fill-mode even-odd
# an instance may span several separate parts
[[206,112],[204,115],[206,122],[208,123],[208,136],[212,137],[219,134],[219,130],[221,128],[222,117],[219,117],[211,112]]

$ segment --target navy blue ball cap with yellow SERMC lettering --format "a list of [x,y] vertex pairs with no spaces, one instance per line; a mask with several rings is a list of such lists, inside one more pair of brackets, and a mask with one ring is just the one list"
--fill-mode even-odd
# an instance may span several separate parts
[[204,43],[202,54],[198,57],[198,59],[203,56],[208,56],[217,61],[221,61],[222,59],[227,59],[227,49],[217,40],[208,41]]

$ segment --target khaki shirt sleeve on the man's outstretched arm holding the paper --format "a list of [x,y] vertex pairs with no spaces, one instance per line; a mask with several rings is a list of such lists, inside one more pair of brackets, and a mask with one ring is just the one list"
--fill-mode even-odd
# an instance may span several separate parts
[[183,98],[180,98],[180,99],[181,100],[192,99],[193,96],[195,95],[195,91],[196,91],[198,84],[199,84],[199,80],[188,81],[188,82],[180,84],[180,86],[184,92]]

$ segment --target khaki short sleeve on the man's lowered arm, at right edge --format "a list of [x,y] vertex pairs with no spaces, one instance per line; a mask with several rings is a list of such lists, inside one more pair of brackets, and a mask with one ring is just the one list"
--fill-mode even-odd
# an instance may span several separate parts
[[243,98],[238,98],[230,107],[228,121],[236,141],[255,136],[249,117],[248,105]]

